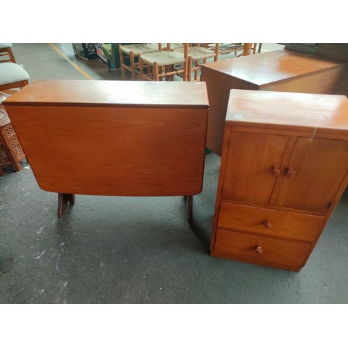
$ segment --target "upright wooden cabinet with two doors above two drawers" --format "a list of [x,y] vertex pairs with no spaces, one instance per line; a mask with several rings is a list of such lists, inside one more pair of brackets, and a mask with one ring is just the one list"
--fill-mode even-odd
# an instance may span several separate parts
[[212,255],[299,271],[347,182],[347,97],[231,90]]

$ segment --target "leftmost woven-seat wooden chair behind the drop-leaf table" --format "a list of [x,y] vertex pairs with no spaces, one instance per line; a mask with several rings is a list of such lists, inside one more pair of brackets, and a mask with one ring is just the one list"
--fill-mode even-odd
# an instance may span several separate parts
[[[136,43],[131,45],[118,45],[120,54],[120,65],[122,72],[122,79],[126,80],[126,70],[132,73],[132,80],[136,80],[139,75],[139,61],[136,61],[136,57],[139,54],[148,54],[151,52],[157,52],[158,47],[153,43]],[[125,57],[129,57],[130,65],[125,63]]]

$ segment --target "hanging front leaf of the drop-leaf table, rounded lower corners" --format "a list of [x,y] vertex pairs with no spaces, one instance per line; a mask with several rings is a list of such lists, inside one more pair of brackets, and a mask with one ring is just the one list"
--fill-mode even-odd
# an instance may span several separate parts
[[46,191],[181,196],[202,189],[207,109],[6,109]]

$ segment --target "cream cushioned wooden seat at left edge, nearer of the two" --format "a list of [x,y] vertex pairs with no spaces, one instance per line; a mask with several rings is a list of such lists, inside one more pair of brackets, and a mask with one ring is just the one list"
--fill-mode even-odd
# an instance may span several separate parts
[[29,82],[29,74],[16,63],[0,64],[0,91],[23,88]]

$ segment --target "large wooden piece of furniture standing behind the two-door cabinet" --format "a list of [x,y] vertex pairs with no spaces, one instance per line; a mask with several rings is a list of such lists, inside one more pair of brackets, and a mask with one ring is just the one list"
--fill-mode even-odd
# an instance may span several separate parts
[[286,49],[206,63],[200,70],[209,96],[207,148],[219,156],[231,89],[348,96],[348,63]]

